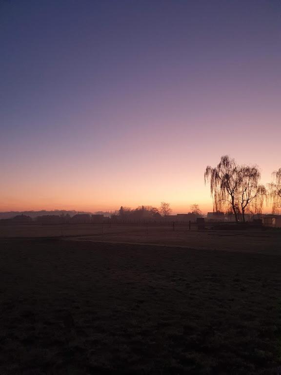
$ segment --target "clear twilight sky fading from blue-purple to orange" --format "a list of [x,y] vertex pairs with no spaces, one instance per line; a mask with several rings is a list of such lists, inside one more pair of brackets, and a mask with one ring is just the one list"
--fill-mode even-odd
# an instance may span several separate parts
[[280,0],[0,0],[0,211],[206,212],[280,149]]

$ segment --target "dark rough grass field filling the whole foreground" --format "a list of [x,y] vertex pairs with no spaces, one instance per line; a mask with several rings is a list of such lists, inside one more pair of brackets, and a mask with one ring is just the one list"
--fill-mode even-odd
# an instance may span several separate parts
[[281,256],[0,240],[0,374],[279,374]]

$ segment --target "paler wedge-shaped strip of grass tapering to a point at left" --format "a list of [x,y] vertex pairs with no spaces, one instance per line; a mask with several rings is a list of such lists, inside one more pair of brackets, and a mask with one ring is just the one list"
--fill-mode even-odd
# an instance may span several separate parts
[[112,243],[153,244],[164,246],[183,246],[198,250],[223,250],[281,254],[281,231],[279,230],[191,230],[184,227],[126,227],[114,233],[79,236],[85,241]]

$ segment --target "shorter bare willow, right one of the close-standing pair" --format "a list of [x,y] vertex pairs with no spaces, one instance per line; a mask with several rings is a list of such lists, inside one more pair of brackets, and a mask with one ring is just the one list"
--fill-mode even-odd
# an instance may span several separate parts
[[241,174],[237,199],[242,220],[245,222],[245,213],[260,213],[264,198],[266,198],[266,188],[260,185],[261,172],[257,166],[241,166]]

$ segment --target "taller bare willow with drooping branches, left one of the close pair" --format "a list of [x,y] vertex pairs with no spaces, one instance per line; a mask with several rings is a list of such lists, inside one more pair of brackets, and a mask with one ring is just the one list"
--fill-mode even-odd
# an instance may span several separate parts
[[228,155],[221,156],[217,167],[206,167],[204,180],[210,182],[214,211],[232,209],[238,222],[239,206],[238,192],[241,184],[240,167]]

